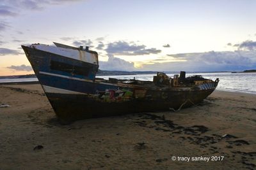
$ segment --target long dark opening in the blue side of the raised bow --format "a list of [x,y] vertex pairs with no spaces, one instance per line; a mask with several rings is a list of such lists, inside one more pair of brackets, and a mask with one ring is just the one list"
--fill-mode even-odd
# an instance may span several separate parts
[[51,60],[51,69],[54,69],[56,71],[63,71],[70,74],[88,76],[90,71],[92,71],[92,66],[73,66],[64,62]]

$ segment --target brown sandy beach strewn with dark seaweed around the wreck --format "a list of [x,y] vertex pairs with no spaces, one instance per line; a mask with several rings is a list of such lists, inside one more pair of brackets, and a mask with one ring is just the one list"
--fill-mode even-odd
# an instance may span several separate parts
[[178,112],[70,125],[58,122],[38,84],[0,85],[3,103],[10,107],[0,108],[0,169],[256,168],[254,94],[216,90]]

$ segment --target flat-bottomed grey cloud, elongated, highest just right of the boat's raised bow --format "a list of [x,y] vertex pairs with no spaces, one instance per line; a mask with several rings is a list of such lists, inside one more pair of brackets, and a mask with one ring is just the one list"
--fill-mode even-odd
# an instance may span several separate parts
[[146,48],[145,45],[136,45],[133,42],[115,41],[108,44],[106,52],[113,55],[148,55],[160,53],[161,50]]

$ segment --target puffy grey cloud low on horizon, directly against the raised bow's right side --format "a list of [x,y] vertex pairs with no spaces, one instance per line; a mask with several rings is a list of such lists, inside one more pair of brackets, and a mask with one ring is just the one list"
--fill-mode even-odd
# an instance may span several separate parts
[[133,71],[134,63],[108,55],[108,61],[99,61],[100,69],[111,71]]

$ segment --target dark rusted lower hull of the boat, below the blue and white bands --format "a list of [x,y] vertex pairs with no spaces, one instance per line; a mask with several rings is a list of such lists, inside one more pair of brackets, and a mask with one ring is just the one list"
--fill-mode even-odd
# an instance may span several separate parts
[[[55,94],[47,93],[52,108],[62,122],[72,122],[84,118],[109,117],[127,113],[152,111],[168,111],[170,108],[186,108],[200,103],[214,89],[196,91],[164,92],[168,99],[133,99],[124,102],[104,102],[95,100],[83,94]],[[150,93],[150,92],[149,92]]]

